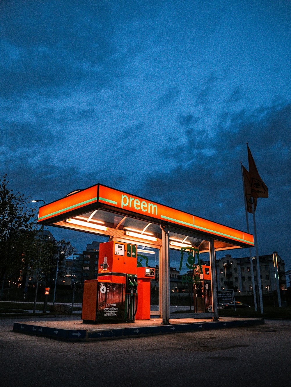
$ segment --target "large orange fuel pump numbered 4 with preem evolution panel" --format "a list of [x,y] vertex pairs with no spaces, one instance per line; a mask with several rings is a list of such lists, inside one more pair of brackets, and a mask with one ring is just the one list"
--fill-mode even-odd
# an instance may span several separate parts
[[134,322],[137,308],[136,245],[100,243],[98,277],[84,281],[83,323]]

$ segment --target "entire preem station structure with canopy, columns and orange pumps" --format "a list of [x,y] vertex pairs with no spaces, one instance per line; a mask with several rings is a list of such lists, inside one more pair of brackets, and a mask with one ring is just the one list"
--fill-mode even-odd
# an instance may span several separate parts
[[[186,265],[192,274],[197,269],[196,260],[199,254],[204,253],[209,257],[209,264],[201,265],[207,271],[199,273],[203,285],[200,283],[200,289],[197,288],[195,293],[196,298],[203,293],[201,299],[205,298],[205,302],[203,306],[201,300],[199,303],[197,301],[196,312],[201,317],[207,313],[207,317],[217,320],[215,252],[254,246],[253,235],[249,233],[102,184],[71,192],[43,205],[39,209],[38,223],[108,236],[109,243],[100,245],[98,277],[84,286],[82,318],[91,322],[96,322],[99,318],[100,321],[108,321],[108,316],[113,316],[113,312],[118,312],[115,317],[119,321],[134,321],[134,316],[148,317],[148,313],[142,311],[141,314],[136,314],[136,289],[138,286],[146,289],[149,278],[143,271],[144,267],[141,267],[141,272],[136,267],[140,245],[158,251],[159,305],[158,310],[150,311],[150,315],[159,315],[163,324],[169,324],[171,248],[186,252],[185,257],[181,257],[180,267]],[[104,249],[101,248],[102,245]],[[191,253],[192,250],[195,254]],[[195,284],[196,276],[193,274],[188,277],[193,278],[191,281]],[[142,281],[142,285],[138,281]],[[104,289],[106,292],[102,293]],[[111,289],[110,295],[105,295],[107,289]],[[206,289],[207,303],[204,296]],[[137,292],[139,295],[138,290]],[[95,305],[92,302],[86,303],[86,299],[90,297],[94,298]],[[144,302],[148,305],[147,297],[148,290],[141,291],[140,305]],[[124,309],[121,306],[118,311],[110,310],[117,308],[117,299],[121,300]],[[100,305],[109,310],[100,310]],[[211,309],[212,312],[209,312]],[[105,312],[108,313],[105,315]]]

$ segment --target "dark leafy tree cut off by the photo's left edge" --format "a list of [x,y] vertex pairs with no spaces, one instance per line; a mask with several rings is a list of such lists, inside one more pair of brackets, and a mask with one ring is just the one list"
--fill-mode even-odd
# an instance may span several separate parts
[[13,194],[4,175],[0,180],[0,280],[23,267],[35,236],[35,209],[29,198]]

